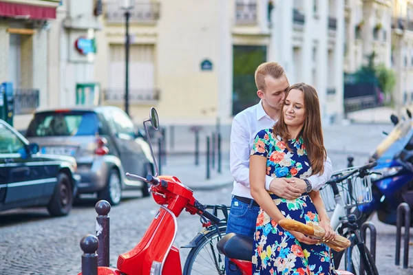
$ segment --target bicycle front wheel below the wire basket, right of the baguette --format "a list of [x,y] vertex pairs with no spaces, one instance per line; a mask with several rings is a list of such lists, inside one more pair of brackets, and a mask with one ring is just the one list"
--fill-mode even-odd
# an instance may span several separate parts
[[356,245],[354,238],[352,245],[346,250],[346,270],[354,275],[379,275],[373,256],[366,244]]

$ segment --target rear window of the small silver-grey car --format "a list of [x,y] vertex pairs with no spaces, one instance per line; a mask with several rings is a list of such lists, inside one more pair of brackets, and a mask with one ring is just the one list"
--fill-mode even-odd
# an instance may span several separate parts
[[26,136],[95,135],[99,129],[98,118],[93,112],[36,113]]

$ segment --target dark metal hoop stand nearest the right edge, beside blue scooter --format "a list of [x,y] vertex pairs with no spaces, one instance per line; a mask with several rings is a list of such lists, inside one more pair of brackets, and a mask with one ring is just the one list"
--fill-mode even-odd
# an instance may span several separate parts
[[[404,212],[404,219],[402,214]],[[407,268],[407,262],[409,261],[409,243],[410,243],[410,207],[407,203],[402,202],[397,206],[397,218],[396,218],[396,259],[395,265],[400,265],[400,246],[401,246],[401,227],[405,227],[404,236],[404,254],[403,254],[403,268]]]

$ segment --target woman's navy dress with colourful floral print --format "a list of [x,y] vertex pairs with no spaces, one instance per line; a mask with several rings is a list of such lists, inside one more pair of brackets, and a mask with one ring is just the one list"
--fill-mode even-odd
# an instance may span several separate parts
[[[309,177],[312,170],[302,137],[288,140],[288,146],[291,148],[290,152],[281,137],[274,137],[272,129],[264,129],[257,133],[251,155],[267,158],[266,173],[271,177]],[[317,210],[307,193],[293,200],[282,199],[271,192],[270,195],[287,219],[319,223]],[[257,217],[252,261],[254,275],[335,274],[332,254],[327,245],[299,243],[262,209]]]

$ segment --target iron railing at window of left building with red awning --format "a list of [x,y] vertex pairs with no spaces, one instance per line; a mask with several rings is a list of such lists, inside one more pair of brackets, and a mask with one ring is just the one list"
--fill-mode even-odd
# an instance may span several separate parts
[[33,113],[39,107],[39,90],[14,89],[13,100],[15,115]]

